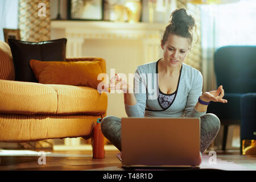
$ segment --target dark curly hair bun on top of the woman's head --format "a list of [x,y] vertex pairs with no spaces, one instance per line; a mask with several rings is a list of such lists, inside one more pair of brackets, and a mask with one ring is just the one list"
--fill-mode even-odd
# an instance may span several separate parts
[[192,29],[195,26],[195,19],[187,13],[187,10],[178,9],[172,12],[170,24],[182,24]]

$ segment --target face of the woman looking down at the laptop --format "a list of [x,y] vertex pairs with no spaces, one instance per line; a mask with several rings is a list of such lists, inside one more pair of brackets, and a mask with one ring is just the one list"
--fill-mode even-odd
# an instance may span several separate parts
[[180,67],[190,51],[190,39],[178,35],[169,34],[167,41],[162,45],[163,61],[172,68]]

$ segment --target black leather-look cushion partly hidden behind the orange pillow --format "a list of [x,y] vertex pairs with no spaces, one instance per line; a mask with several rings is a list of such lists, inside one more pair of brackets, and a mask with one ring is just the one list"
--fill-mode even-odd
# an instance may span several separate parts
[[38,82],[30,67],[30,60],[65,61],[67,39],[45,42],[24,42],[8,39],[15,68],[15,80]]

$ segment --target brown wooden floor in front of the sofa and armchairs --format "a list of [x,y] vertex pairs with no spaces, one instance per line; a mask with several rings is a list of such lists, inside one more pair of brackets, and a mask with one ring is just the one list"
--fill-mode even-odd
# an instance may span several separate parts
[[[0,150],[1,151],[1,150]],[[39,151],[39,150],[38,150]],[[46,164],[39,164],[38,155],[15,154],[1,155],[0,171],[2,170],[46,170],[46,171],[69,171],[69,170],[108,170],[118,171],[122,169],[122,163],[115,156],[119,151],[105,151],[104,159],[92,159],[92,151],[52,151],[45,150]],[[207,153],[205,154],[207,155]],[[246,166],[256,171],[256,156],[240,155],[239,151],[217,151],[217,158]],[[41,162],[43,160],[40,160]]]

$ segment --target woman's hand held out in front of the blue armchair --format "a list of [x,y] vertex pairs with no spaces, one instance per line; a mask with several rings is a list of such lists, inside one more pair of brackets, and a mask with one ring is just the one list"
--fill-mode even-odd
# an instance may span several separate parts
[[217,90],[204,92],[200,96],[200,99],[205,102],[213,101],[213,102],[227,103],[228,101],[223,99],[223,97],[224,97],[224,89],[222,88],[222,85],[220,85]]

